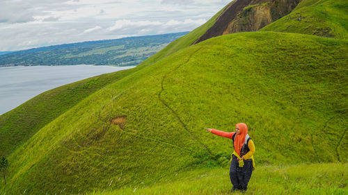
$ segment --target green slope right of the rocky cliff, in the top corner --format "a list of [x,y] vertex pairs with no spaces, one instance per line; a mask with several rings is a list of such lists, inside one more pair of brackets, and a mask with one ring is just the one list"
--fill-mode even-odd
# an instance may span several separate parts
[[303,0],[289,15],[260,31],[301,33],[347,40],[348,1]]

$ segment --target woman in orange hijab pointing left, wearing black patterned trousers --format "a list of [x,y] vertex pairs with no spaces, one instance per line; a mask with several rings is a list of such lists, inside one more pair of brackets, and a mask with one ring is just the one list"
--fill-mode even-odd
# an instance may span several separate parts
[[246,124],[236,124],[236,131],[230,133],[212,128],[205,129],[215,135],[232,139],[235,150],[231,155],[230,180],[233,185],[231,191],[246,191],[251,173],[255,169],[253,158],[255,146],[248,135],[248,126]]

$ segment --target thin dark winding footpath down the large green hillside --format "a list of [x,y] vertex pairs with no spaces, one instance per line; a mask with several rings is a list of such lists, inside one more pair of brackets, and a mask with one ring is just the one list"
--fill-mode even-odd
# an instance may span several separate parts
[[161,94],[162,92],[164,91],[164,87],[163,87],[163,83],[164,83],[164,80],[168,77],[169,74],[173,73],[174,71],[176,71],[177,69],[179,69],[180,67],[182,67],[182,65],[185,65],[187,64],[187,62],[189,62],[189,60],[191,59],[191,57],[193,56],[193,54],[195,54],[197,51],[200,51],[201,48],[197,49],[195,52],[193,52],[189,58],[186,60],[186,62],[178,65],[177,67],[175,67],[175,69],[173,69],[172,71],[169,71],[167,74],[165,74],[163,76],[163,79],[161,80],[161,91],[159,92],[158,94],[158,99],[159,101],[161,101],[161,103],[163,103],[166,108],[168,108],[168,110],[171,110],[171,112],[173,113],[173,115],[177,118],[177,120],[180,122],[180,124],[182,125],[182,127],[184,127],[184,130],[187,131],[187,133],[189,133],[189,135],[194,139],[196,140],[196,142],[198,142],[201,146],[203,146],[203,148],[205,148],[205,150],[207,151],[207,153],[209,155],[212,155],[212,152],[208,149],[208,147],[203,144],[203,142],[200,142],[200,140],[198,139],[198,137],[196,137],[195,135],[193,135],[193,133],[191,133],[191,131],[189,131],[189,129],[187,128],[187,125],[184,124],[184,122],[182,121],[182,119],[180,119],[179,115],[177,115],[177,112],[175,112],[175,110],[173,110],[173,108],[169,107],[169,105],[163,100],[161,99]]

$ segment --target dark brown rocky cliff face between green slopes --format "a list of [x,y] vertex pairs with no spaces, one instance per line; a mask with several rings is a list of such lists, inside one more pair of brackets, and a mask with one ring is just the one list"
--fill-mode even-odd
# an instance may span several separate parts
[[232,1],[214,25],[196,40],[196,43],[211,37],[258,31],[280,17],[289,14],[301,0],[235,0]]

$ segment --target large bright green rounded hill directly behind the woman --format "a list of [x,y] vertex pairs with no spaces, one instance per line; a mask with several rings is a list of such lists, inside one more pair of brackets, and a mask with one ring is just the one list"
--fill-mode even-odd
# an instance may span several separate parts
[[[226,166],[250,126],[258,164],[347,161],[348,42],[291,33],[216,37],[104,87],[10,155],[1,192],[88,192]],[[109,123],[127,115],[124,130]],[[331,149],[331,150],[327,150]],[[31,183],[27,181],[31,180]]]

